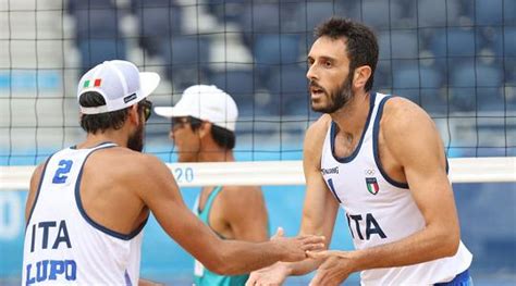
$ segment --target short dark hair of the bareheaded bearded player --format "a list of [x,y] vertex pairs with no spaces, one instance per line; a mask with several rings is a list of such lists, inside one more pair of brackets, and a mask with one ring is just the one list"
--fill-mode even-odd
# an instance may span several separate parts
[[378,40],[369,27],[348,18],[331,17],[316,28],[315,36],[318,38],[327,36],[332,39],[345,37],[347,57],[349,58],[349,73],[358,66],[369,65],[371,76],[365,88],[366,91],[371,90],[378,63]]

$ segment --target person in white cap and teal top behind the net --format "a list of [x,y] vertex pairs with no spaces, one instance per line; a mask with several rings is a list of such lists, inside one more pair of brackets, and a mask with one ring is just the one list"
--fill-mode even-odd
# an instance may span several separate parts
[[[184,90],[174,107],[155,108],[170,119],[170,138],[179,162],[234,162],[235,124],[238,109],[233,98],[211,85]],[[257,186],[206,186],[194,207],[195,214],[223,239],[266,241],[269,224],[266,203]],[[195,261],[195,284],[199,286],[244,285],[248,275],[224,276]]]

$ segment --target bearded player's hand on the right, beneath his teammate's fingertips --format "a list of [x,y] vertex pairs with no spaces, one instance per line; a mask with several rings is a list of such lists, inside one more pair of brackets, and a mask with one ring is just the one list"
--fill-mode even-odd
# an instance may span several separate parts
[[353,272],[349,253],[336,250],[307,251],[309,258],[324,260],[317,270],[316,276],[311,279],[310,286],[341,285]]

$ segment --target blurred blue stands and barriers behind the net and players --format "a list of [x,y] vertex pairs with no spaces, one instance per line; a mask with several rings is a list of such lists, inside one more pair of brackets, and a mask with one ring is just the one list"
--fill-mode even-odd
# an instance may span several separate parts
[[[320,116],[308,102],[306,54],[314,27],[332,15],[374,29],[373,89],[421,105],[449,157],[516,156],[516,0],[0,0],[0,165],[36,165],[82,140],[76,83],[112,59],[161,75],[155,105],[174,104],[193,84],[232,95],[238,160],[300,160],[305,129]],[[174,162],[169,128],[151,116],[145,151]],[[189,206],[197,190],[182,189]],[[263,190],[271,232],[295,235],[304,187]],[[516,285],[516,184],[454,190],[475,283]],[[25,198],[0,191],[0,285],[21,281]],[[341,216],[332,248],[351,249]],[[189,285],[192,273],[192,258],[150,220],[142,276]]]

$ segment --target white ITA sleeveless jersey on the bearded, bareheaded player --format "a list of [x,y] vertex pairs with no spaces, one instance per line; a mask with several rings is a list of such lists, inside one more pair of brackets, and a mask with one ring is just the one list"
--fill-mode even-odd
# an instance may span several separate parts
[[[355,248],[365,249],[401,240],[425,228],[425,219],[407,184],[390,178],[382,170],[378,134],[383,104],[390,97],[371,94],[365,132],[356,150],[346,158],[333,154],[335,123],[328,129],[321,158],[321,173],[335,199],[346,212]],[[471,253],[460,241],[450,258],[415,265],[366,270],[363,285],[429,285],[449,282],[471,263]]]

